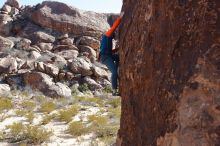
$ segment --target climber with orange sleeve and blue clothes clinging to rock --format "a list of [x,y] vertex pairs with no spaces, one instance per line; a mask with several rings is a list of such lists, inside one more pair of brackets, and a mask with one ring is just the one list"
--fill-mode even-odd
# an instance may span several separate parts
[[108,69],[111,71],[111,83],[112,83],[112,95],[120,96],[120,93],[117,89],[118,87],[118,64],[119,64],[119,55],[115,54],[118,48],[112,48],[112,40],[115,37],[114,31],[121,22],[121,19],[124,15],[124,12],[120,13],[120,16],[114,22],[112,27],[102,35],[101,46],[99,52],[99,58],[101,63],[105,64]]

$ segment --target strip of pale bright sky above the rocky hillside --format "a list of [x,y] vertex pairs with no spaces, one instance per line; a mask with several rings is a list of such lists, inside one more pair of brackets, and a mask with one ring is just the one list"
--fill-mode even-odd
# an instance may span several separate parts
[[[6,0],[0,0],[0,7]],[[21,5],[36,5],[45,0],[18,0]],[[120,13],[122,0],[53,0],[66,3],[83,10],[100,13]]]

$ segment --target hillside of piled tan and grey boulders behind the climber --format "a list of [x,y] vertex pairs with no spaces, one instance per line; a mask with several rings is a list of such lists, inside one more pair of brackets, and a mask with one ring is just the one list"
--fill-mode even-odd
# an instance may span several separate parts
[[87,12],[59,2],[21,6],[7,0],[0,11],[0,94],[37,90],[70,97],[71,90],[93,93],[110,84],[96,62],[101,34],[114,15]]

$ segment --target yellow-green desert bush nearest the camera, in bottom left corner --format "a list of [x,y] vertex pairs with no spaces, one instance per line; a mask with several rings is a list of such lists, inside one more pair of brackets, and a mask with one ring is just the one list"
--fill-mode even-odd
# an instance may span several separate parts
[[10,141],[27,141],[29,144],[41,144],[49,140],[52,135],[51,131],[47,131],[38,126],[23,125],[22,123],[13,123],[12,125],[7,126],[7,129],[10,130]]

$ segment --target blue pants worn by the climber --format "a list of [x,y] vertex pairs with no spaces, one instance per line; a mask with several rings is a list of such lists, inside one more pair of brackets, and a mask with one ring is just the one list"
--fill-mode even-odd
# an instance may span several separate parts
[[111,82],[112,82],[112,89],[117,89],[118,84],[118,63],[119,63],[119,56],[118,54],[113,55],[101,55],[101,62],[105,64],[108,69],[111,71]]

